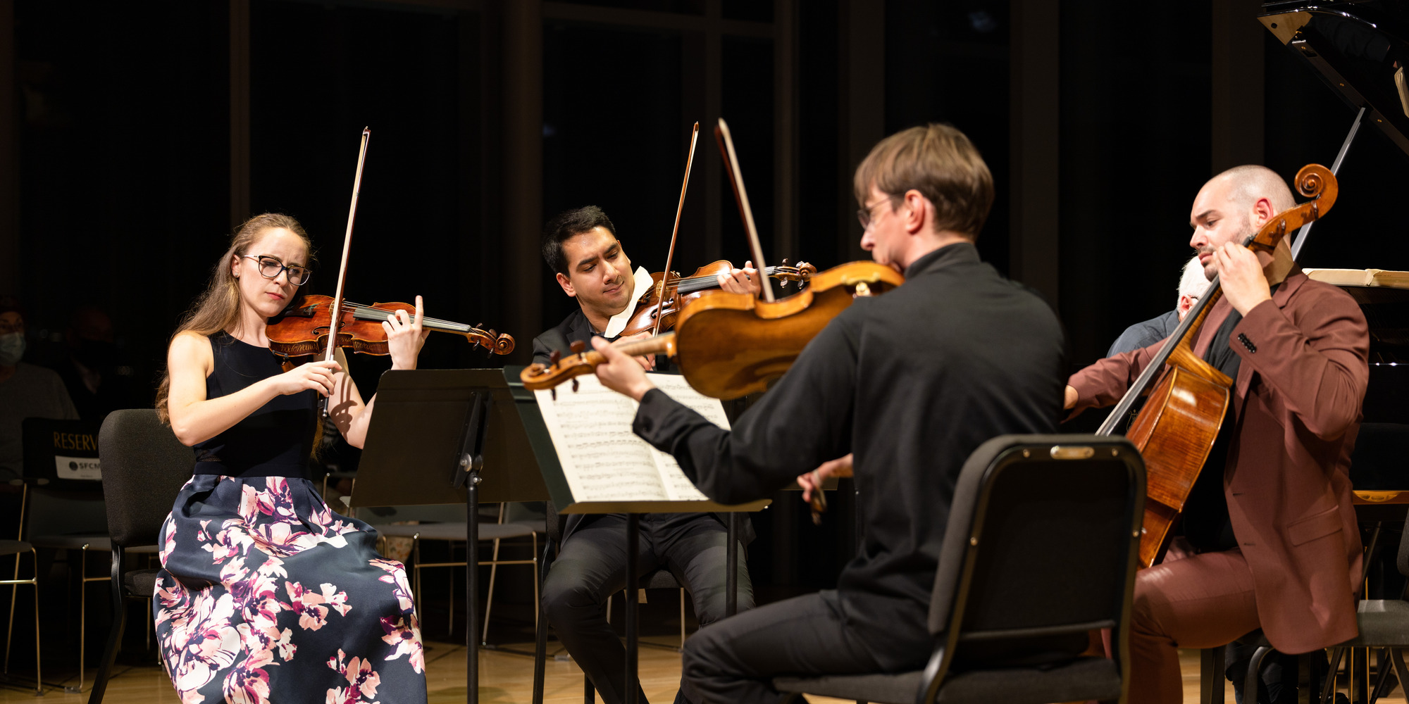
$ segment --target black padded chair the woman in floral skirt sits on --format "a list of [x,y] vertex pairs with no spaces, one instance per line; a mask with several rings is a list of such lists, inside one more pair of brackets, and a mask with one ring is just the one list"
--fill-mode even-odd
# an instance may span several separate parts
[[107,531],[113,539],[113,628],[99,662],[89,704],[100,704],[113,660],[127,625],[124,600],[152,597],[156,569],[128,572],[125,548],[155,545],[172,501],[196,467],[196,453],[180,444],[172,429],[156,420],[156,411],[134,408],[113,411],[97,438],[103,462],[103,494],[107,498]]

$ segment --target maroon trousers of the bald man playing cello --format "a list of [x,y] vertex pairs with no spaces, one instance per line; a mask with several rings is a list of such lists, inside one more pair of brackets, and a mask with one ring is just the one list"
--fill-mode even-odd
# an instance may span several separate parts
[[1178,648],[1216,648],[1258,628],[1243,552],[1208,552],[1136,573],[1130,701],[1182,704]]

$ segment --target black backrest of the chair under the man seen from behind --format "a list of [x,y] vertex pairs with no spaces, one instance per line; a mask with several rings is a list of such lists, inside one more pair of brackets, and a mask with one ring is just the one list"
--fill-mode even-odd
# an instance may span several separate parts
[[1088,631],[1126,622],[1144,494],[1144,462],[1120,436],[985,442],[955,484],[930,631],[962,660],[1079,653]]

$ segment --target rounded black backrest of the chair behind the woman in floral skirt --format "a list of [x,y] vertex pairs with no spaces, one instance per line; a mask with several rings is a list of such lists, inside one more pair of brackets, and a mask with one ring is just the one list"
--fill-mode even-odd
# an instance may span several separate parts
[[97,446],[113,543],[154,545],[172,501],[196,467],[196,452],[182,445],[152,408],[110,413]]

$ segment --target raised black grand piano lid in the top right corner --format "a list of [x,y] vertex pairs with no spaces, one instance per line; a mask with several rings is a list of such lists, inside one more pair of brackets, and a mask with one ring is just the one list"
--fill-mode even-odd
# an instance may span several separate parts
[[[1409,8],[1398,1],[1264,6],[1258,21],[1409,153]],[[1395,62],[1399,68],[1395,68]],[[1398,75],[1398,76],[1396,76]]]

